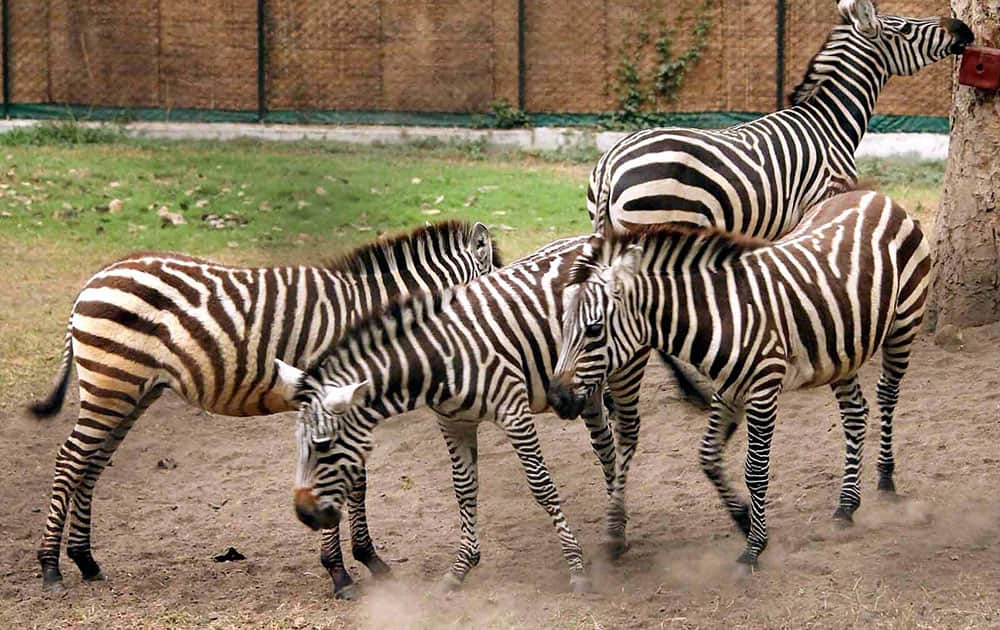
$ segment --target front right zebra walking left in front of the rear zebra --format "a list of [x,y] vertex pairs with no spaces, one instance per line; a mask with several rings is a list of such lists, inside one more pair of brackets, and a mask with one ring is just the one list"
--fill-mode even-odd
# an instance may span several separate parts
[[[919,224],[875,192],[823,202],[775,243],[679,226],[594,236],[566,289],[549,401],[572,417],[607,373],[642,348],[696,366],[717,388],[701,467],[747,536],[740,562],[753,567],[767,544],[764,497],[779,392],[833,389],[847,443],[834,517],[849,524],[861,502],[868,416],[857,371],[880,348],[878,487],[894,492],[892,419],[930,272]],[[720,441],[732,435],[740,410],[749,436],[749,509],[721,465]],[[637,438],[628,438],[633,449]]]

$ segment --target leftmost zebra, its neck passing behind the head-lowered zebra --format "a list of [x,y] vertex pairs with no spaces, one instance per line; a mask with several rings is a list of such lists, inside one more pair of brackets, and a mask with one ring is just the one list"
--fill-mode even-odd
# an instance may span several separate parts
[[[62,590],[59,551],[85,580],[104,574],[90,545],[97,479],[129,429],[164,389],[229,416],[290,411],[274,359],[309,365],[356,319],[416,290],[462,283],[500,265],[482,224],[442,222],[376,241],[317,267],[240,268],[179,254],[138,253],[88,280],[73,305],[62,365],[49,396],[57,413],[76,366],[80,414],[59,450],[38,549],[46,590]],[[354,557],[389,571],[368,532],[365,477],[350,498]],[[321,560],[335,596],[353,595],[339,532],[324,532]]]

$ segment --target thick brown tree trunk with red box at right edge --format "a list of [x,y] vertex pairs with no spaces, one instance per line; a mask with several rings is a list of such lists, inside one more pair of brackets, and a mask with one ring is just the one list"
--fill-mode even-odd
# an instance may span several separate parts
[[[952,7],[976,34],[975,45],[997,45],[1000,2],[952,0]],[[932,328],[1000,321],[1000,95],[957,86],[951,119],[948,168],[934,229]]]

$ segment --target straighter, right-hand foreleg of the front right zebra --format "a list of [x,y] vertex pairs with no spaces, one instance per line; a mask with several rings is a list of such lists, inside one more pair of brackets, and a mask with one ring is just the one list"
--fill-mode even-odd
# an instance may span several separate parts
[[747,460],[744,469],[747,490],[750,491],[750,533],[739,562],[756,568],[757,558],[767,547],[767,520],[764,502],[770,477],[771,439],[777,411],[777,393],[753,399],[747,403]]

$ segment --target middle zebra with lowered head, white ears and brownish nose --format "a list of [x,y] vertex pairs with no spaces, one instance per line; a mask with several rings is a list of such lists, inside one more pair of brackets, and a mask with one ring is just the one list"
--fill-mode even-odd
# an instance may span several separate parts
[[[572,589],[587,591],[580,545],[560,507],[532,419],[547,408],[562,287],[587,238],[556,241],[462,287],[393,304],[356,324],[311,370],[280,364],[280,378],[294,389],[300,408],[294,493],[299,520],[313,529],[336,524],[365,469],[376,425],[429,407],[447,443],[460,511],[461,542],[443,582],[457,588],[480,559],[476,433],[479,423],[492,421],[510,440],[532,494],[552,518]],[[613,397],[624,390],[615,375],[609,381]],[[616,413],[637,415],[631,400],[614,397]],[[614,447],[601,397],[591,397],[582,411],[610,492]]]

